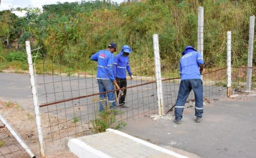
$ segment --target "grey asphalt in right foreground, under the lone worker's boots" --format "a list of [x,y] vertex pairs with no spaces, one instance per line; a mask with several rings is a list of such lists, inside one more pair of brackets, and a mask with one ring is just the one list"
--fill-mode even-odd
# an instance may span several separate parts
[[256,96],[221,97],[204,106],[204,120],[195,122],[195,109],[185,108],[182,124],[144,117],[128,121],[123,132],[204,158],[256,158]]

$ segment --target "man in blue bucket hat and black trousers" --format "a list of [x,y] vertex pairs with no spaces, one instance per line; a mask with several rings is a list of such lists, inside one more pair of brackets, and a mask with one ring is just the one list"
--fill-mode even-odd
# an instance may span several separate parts
[[[130,65],[129,65],[129,54],[131,54],[131,48],[128,45],[123,45],[121,51],[116,55],[113,63],[113,74],[116,77],[116,82],[120,88],[127,86],[126,81],[126,70],[130,75],[131,79],[133,78]],[[116,91],[117,96],[119,91]],[[119,106],[128,108],[129,106],[125,104],[126,89],[123,90],[123,96],[119,97]]]

